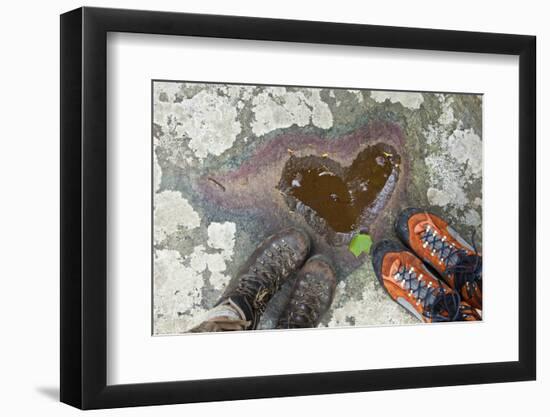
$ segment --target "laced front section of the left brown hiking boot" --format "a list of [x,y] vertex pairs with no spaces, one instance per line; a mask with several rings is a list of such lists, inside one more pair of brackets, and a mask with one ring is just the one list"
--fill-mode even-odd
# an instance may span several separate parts
[[252,301],[252,307],[263,314],[267,302],[280,288],[281,278],[293,271],[297,262],[296,252],[286,242],[273,243],[243,274],[236,292]]

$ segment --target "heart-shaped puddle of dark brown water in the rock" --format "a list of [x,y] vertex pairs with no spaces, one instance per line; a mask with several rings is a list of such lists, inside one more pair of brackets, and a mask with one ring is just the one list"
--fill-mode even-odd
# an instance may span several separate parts
[[293,159],[283,170],[283,191],[341,233],[360,226],[362,213],[375,202],[392,172],[396,175],[400,163],[399,155],[385,144],[367,147],[347,168],[328,157]]

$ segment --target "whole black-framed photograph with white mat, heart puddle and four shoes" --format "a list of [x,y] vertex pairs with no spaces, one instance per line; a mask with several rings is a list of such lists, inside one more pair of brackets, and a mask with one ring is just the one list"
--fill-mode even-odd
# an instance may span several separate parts
[[535,37],[61,16],[61,401],[533,380]]

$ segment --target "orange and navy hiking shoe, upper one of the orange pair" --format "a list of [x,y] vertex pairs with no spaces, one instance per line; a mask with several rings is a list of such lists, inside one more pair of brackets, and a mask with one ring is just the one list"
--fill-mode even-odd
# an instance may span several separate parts
[[482,308],[482,258],[475,246],[436,214],[417,208],[403,211],[395,223],[399,238],[457,290],[462,300]]

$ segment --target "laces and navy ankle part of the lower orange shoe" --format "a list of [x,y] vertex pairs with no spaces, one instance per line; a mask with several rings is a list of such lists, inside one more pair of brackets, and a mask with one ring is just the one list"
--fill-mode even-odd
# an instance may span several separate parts
[[401,265],[394,274],[401,288],[408,290],[416,299],[416,305],[422,306],[422,314],[432,322],[460,321],[465,317],[460,308],[460,295],[456,291],[446,291],[441,283],[437,287],[431,281],[423,279],[414,267]]

